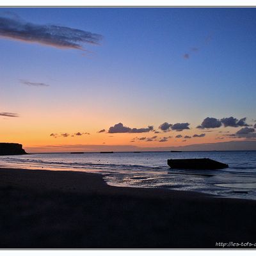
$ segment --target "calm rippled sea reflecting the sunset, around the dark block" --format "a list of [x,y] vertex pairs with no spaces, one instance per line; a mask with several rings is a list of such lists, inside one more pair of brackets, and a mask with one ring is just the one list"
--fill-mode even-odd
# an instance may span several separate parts
[[[209,157],[229,168],[170,169],[167,159]],[[114,152],[0,156],[0,167],[101,173],[111,186],[198,191],[256,200],[256,151]]]

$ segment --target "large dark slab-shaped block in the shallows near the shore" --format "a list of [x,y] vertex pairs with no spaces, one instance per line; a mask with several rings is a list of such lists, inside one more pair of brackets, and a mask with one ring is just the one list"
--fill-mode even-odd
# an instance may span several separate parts
[[179,169],[222,169],[227,168],[228,164],[223,164],[209,158],[198,159],[168,159],[168,165],[171,168]]

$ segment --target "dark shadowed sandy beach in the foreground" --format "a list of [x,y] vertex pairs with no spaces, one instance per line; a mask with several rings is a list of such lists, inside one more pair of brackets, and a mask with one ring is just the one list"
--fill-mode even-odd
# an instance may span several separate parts
[[99,174],[4,168],[0,193],[1,248],[216,248],[216,242],[256,243],[252,200],[116,188]]

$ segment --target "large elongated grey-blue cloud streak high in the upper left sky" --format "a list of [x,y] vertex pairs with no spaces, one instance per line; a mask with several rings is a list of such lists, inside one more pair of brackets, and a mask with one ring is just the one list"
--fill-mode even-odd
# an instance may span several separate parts
[[101,35],[56,25],[39,25],[15,17],[0,17],[0,36],[28,43],[38,43],[60,49],[79,49],[83,44],[99,44]]

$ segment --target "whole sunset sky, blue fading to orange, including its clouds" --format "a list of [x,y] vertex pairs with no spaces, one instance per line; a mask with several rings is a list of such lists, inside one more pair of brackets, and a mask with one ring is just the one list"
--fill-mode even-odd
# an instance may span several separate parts
[[0,141],[256,150],[255,28],[255,8],[0,8]]

